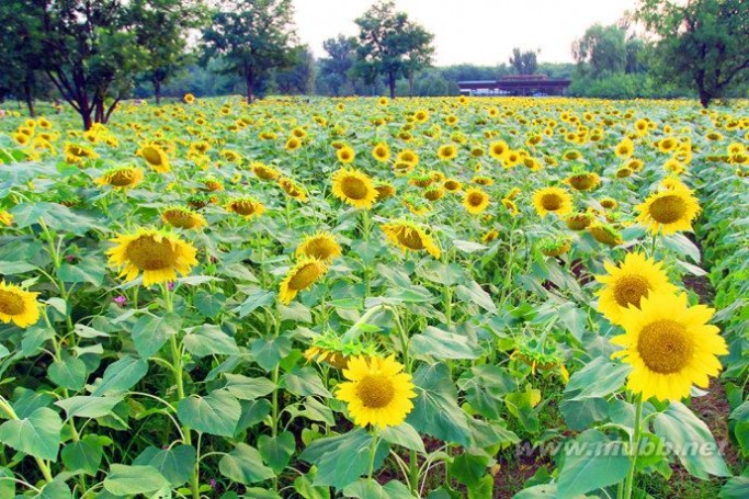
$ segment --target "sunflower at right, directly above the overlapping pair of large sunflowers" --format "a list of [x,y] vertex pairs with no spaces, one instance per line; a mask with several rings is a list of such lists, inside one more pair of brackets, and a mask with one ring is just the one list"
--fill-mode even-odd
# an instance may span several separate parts
[[689,189],[671,189],[656,192],[636,206],[637,222],[645,224],[652,234],[663,236],[680,230],[692,230],[692,222],[700,213],[700,204]]

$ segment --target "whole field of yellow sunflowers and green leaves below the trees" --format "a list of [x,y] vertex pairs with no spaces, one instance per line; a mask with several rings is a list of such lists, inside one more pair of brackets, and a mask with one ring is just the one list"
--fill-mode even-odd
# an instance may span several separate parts
[[749,102],[0,117],[0,498],[749,495]]

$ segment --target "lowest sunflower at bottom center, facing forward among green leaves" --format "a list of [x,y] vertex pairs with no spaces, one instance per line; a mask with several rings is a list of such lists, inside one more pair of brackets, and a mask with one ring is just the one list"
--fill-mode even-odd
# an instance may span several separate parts
[[349,413],[360,427],[401,424],[413,409],[416,397],[411,375],[394,355],[387,359],[355,356],[343,370],[348,382],[338,385],[336,398],[348,404]]

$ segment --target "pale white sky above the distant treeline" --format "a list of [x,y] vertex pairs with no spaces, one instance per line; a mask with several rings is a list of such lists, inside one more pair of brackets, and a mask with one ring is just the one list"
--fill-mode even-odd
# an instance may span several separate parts
[[[294,0],[297,35],[316,57],[322,41],[353,36],[374,0]],[[615,23],[637,0],[396,0],[434,34],[434,65],[508,63],[512,47],[541,49],[540,63],[572,63],[570,47],[594,23]]]

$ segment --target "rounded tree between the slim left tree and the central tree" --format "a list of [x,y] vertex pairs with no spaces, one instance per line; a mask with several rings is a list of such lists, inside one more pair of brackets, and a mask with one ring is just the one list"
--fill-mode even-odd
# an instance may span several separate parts
[[293,63],[293,18],[292,0],[225,1],[203,32],[205,58],[219,56],[222,72],[239,73],[252,103],[260,77]]

